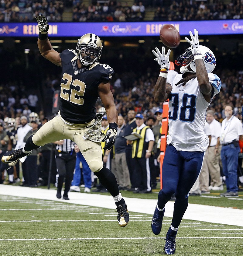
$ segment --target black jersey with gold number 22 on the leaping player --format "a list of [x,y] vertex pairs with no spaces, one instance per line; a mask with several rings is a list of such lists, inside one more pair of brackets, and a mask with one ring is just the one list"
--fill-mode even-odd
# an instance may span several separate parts
[[96,113],[98,86],[101,82],[109,82],[114,71],[109,65],[99,62],[79,69],[75,50],[64,50],[60,58],[63,71],[60,114],[70,123],[90,122]]

